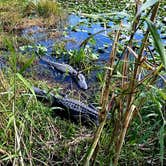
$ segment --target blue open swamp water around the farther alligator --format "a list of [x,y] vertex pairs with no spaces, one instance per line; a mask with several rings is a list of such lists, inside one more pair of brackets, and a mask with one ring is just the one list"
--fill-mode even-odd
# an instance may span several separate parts
[[[130,25],[128,24],[127,17],[123,18],[123,25],[126,26],[126,29],[129,28]],[[105,63],[109,58],[112,46],[112,37],[114,36],[114,34],[111,33],[113,32],[114,27],[116,27],[116,25],[111,20],[107,21],[107,23],[103,23],[99,21],[92,21],[92,19],[89,19],[85,16],[71,14],[68,17],[67,27],[61,29],[63,31],[62,33],[65,35],[62,35],[59,38],[50,37],[48,35],[47,29],[40,28],[38,26],[23,30],[22,36],[28,39],[32,39],[35,42],[37,49],[40,49],[39,47],[43,47],[45,49],[45,53],[43,55],[45,58],[48,58],[55,62],[69,64],[68,56],[70,55],[64,55],[63,52],[61,52],[60,56],[56,56],[56,52],[58,52],[58,50],[56,50],[56,45],[65,41],[65,49],[67,51],[70,52],[71,50],[79,50],[80,45],[83,41],[85,41],[89,36],[97,33],[93,36],[92,40],[89,40],[90,42],[88,42],[85,46],[85,48],[90,48],[92,50],[96,58],[96,60],[91,61],[91,64],[93,65],[93,67],[95,67],[92,67],[92,70],[90,70],[88,74],[85,73],[86,81],[90,90],[94,89],[94,87],[96,87],[96,84],[98,84],[97,75],[98,73],[103,72],[101,68],[105,66]],[[51,31],[56,32],[56,29],[51,29]],[[142,31],[137,31],[134,38],[137,43],[141,42],[141,39],[143,38]],[[122,34],[120,39],[121,44],[123,45],[123,42],[125,43],[125,41],[127,41],[128,39],[129,38],[127,35]],[[55,50],[53,49],[54,47]],[[53,53],[54,51],[55,53]],[[45,69],[50,71],[50,73],[48,73],[47,75],[47,79],[53,79],[55,82],[58,82],[61,85],[65,85],[65,87],[69,89],[74,88],[80,90],[75,81],[67,74],[62,74],[56,70],[52,70],[51,68],[49,68],[47,63],[42,60],[39,61],[39,66],[40,67],[38,70],[40,70],[39,72],[41,75]],[[84,72],[86,72],[86,68],[82,69],[79,65],[73,67],[77,71],[83,70],[83,74]]]

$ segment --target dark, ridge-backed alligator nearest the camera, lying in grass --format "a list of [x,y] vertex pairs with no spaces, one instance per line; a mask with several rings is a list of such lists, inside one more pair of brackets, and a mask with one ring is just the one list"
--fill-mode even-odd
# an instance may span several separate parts
[[93,105],[86,105],[79,100],[55,96],[37,87],[33,87],[38,100],[49,103],[55,109],[54,114],[82,124],[99,124],[98,110]]

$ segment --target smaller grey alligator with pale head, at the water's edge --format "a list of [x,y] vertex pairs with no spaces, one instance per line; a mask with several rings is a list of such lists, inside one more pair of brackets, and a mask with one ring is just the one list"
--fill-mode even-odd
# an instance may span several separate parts
[[76,80],[77,84],[81,89],[87,90],[88,86],[85,80],[85,76],[78,71],[76,71],[73,67],[65,63],[58,63],[51,61],[47,58],[41,58],[44,62],[46,62],[51,68],[56,69],[62,73],[69,73],[74,80]]

